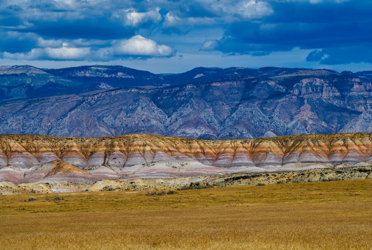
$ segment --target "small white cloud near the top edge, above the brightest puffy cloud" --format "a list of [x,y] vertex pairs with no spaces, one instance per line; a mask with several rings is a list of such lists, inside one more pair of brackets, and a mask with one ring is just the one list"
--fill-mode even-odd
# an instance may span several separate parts
[[133,8],[120,10],[113,14],[114,17],[123,21],[125,26],[136,27],[149,21],[159,22],[162,19],[159,13],[160,8],[155,8],[147,12],[137,12]]

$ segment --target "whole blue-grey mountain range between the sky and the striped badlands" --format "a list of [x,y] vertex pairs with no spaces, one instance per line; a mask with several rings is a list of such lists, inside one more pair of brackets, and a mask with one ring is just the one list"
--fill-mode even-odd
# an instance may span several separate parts
[[248,139],[372,132],[372,72],[0,67],[0,133]]

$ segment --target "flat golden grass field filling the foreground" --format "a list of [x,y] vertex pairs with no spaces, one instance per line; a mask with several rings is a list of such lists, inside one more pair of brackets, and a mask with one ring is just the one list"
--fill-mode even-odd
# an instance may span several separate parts
[[372,249],[372,179],[177,192],[1,196],[0,249]]

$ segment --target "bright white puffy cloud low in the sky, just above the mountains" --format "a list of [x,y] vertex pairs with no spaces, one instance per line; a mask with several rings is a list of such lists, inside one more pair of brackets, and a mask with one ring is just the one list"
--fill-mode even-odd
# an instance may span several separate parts
[[115,55],[132,56],[171,56],[174,50],[166,45],[158,45],[155,41],[141,35],[133,36],[127,40],[121,40],[113,46]]

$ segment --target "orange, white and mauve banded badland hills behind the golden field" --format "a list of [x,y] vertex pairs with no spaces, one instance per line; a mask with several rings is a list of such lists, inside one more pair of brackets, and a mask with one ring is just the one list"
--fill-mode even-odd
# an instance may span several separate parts
[[0,181],[167,178],[372,165],[372,134],[190,140],[150,135],[59,138],[2,135]]

